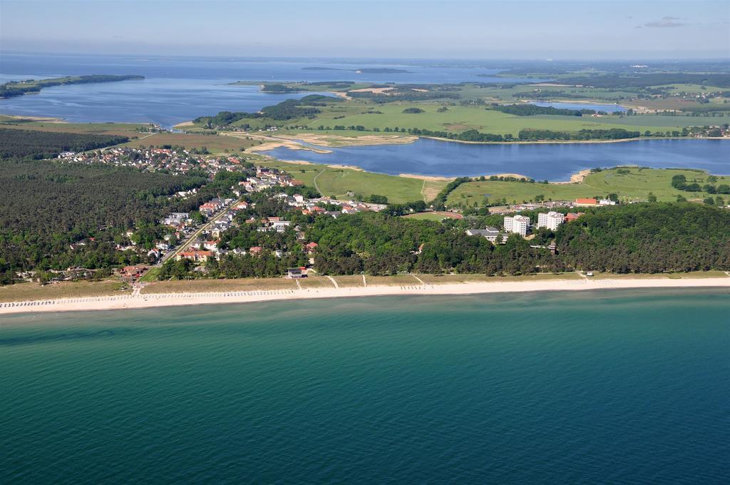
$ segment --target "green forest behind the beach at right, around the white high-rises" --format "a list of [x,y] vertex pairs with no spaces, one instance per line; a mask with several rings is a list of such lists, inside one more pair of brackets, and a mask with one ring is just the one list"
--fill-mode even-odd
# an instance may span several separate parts
[[[318,272],[330,275],[730,270],[730,212],[717,207],[684,202],[588,208],[554,234],[540,229],[533,241],[512,235],[507,244],[496,246],[464,234],[469,227],[498,221],[501,216],[442,224],[385,214],[320,217],[307,237],[319,244]],[[556,255],[530,247],[553,237]]]

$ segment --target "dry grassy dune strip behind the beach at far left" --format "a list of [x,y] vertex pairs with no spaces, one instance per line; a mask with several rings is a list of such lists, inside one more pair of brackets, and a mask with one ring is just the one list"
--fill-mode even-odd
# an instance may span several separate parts
[[64,281],[46,286],[40,286],[38,283],[18,283],[0,286],[0,302],[131,294],[131,291],[123,288],[126,288],[126,285],[118,280]]

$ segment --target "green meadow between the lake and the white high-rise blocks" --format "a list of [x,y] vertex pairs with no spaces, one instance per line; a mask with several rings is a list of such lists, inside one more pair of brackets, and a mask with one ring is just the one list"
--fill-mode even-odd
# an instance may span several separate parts
[[[491,201],[507,199],[507,203],[530,202],[537,195],[545,196],[546,200],[572,200],[579,197],[606,196],[607,194],[618,194],[619,199],[647,200],[649,192],[656,195],[660,201],[674,201],[677,195],[682,195],[688,200],[702,200],[708,196],[706,192],[685,192],[678,191],[672,187],[671,181],[674,175],[685,175],[688,183],[699,183],[700,186],[707,183],[706,172],[688,169],[641,169],[636,167],[625,167],[628,174],[618,172],[618,169],[609,169],[593,173],[585,177],[581,183],[520,183],[520,182],[469,182],[461,184],[453,191],[447,199],[448,205],[468,205],[472,207],[475,202],[483,205],[485,197]],[[714,185],[722,183],[730,184],[730,177],[718,176]],[[723,196],[730,199],[729,196]]]

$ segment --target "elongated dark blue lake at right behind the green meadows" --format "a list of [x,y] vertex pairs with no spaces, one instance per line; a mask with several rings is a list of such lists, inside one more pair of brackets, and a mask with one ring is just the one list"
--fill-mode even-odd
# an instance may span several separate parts
[[443,177],[518,173],[535,180],[564,181],[593,167],[638,165],[696,168],[730,174],[728,140],[636,140],[612,143],[471,144],[420,138],[406,145],[329,148],[332,153],[274,148],[282,160],[356,165],[369,172]]

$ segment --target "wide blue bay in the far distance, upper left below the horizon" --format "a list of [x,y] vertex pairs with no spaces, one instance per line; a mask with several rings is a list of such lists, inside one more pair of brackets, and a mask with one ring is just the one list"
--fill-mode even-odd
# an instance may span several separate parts
[[[328,70],[305,69],[308,67]],[[406,73],[356,73],[357,69],[401,69]],[[332,70],[330,70],[332,69]],[[0,83],[42,77],[142,75],[145,80],[57,86],[39,94],[0,100],[9,115],[50,116],[66,121],[144,122],[172,126],[219,111],[258,111],[310,93],[261,93],[245,81],[331,81],[371,83],[529,83],[542,80],[481,77],[499,69],[483,64],[373,59],[281,59],[160,56],[93,56],[2,53]]]

